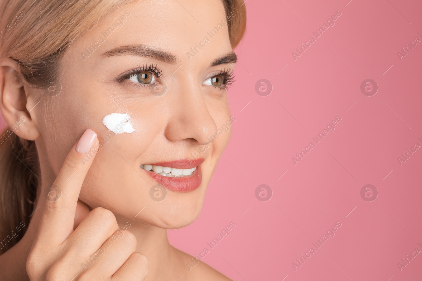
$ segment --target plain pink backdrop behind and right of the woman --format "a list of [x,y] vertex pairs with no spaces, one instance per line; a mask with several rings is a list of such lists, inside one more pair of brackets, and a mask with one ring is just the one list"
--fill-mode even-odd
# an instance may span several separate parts
[[[397,53],[422,40],[422,3],[250,0],[246,9],[229,91],[233,136],[200,217],[169,231],[170,241],[190,254],[207,247],[203,260],[238,281],[419,280],[422,253],[401,271],[397,264],[422,250],[422,149],[401,166],[397,158],[422,145],[422,42],[401,61]],[[336,11],[335,25],[293,59]],[[379,86],[374,96],[360,91],[368,78]],[[273,86],[268,96],[255,91],[260,79]],[[292,157],[336,116],[335,131],[295,166]],[[271,187],[269,201],[255,197],[261,184]],[[366,184],[378,190],[375,201],[362,199]],[[316,249],[335,222],[335,236]]]

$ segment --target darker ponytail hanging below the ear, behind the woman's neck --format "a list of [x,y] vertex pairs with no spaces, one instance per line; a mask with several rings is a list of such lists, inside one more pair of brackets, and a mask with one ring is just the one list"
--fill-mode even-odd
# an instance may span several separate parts
[[41,175],[34,141],[20,138],[10,128],[3,131],[0,139],[0,254],[3,254],[27,230]]

